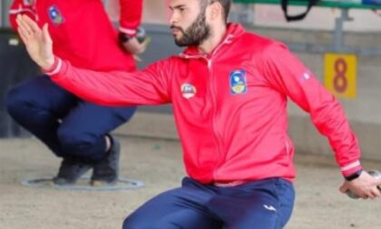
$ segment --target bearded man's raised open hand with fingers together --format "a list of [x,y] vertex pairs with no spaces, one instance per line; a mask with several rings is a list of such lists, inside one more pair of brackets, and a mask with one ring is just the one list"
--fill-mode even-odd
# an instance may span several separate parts
[[23,40],[26,50],[37,65],[50,69],[54,65],[53,41],[49,35],[48,25],[41,29],[27,15],[17,15],[18,34]]

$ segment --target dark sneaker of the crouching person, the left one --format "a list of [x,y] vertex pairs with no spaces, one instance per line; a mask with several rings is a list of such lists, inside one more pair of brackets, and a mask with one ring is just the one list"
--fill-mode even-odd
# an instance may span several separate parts
[[91,168],[91,164],[84,164],[73,158],[64,158],[58,174],[53,178],[53,183],[57,185],[75,184]]

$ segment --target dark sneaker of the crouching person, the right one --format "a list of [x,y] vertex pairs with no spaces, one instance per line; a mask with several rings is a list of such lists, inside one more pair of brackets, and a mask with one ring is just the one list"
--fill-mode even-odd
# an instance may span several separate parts
[[93,186],[115,184],[118,180],[121,144],[114,137],[109,136],[112,141],[110,151],[103,159],[93,164],[93,175],[91,179]]

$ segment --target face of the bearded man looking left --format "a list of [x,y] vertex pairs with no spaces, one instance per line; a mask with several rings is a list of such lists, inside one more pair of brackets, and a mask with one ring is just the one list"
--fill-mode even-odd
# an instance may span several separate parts
[[176,45],[200,45],[210,36],[202,0],[171,0],[171,31]]

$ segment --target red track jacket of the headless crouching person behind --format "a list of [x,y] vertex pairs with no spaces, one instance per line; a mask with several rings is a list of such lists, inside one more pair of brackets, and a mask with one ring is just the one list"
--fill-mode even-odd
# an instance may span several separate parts
[[[120,30],[134,35],[141,23],[142,0],[120,0]],[[132,55],[118,43],[117,31],[101,0],[15,0],[10,13],[16,29],[17,14],[26,14],[38,25],[49,24],[54,54],[74,66],[98,71],[134,71]]]

